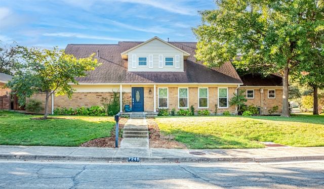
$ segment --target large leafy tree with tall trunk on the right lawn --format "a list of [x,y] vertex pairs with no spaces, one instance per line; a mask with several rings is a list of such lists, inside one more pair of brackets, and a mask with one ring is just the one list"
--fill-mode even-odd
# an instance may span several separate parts
[[203,23],[193,28],[198,39],[196,58],[211,67],[233,60],[247,70],[261,67],[265,74],[281,74],[281,116],[290,117],[290,70],[307,64],[312,40],[323,51],[323,0],[220,0],[216,4],[216,10],[200,12]]

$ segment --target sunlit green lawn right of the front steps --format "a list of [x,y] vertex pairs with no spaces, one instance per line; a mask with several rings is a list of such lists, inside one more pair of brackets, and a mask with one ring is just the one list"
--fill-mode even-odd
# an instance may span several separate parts
[[189,149],[264,148],[261,141],[293,147],[324,146],[324,116],[158,117],[163,134]]

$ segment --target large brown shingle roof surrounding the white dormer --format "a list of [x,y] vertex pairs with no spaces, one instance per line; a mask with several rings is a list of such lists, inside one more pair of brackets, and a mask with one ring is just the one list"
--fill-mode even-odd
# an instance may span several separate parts
[[118,44],[68,44],[65,53],[85,58],[99,50],[98,62],[102,65],[79,77],[79,83],[242,83],[234,67],[225,63],[220,68],[209,69],[195,62],[195,42],[170,42],[190,54],[184,62],[184,72],[128,72],[127,60],[120,53],[142,42],[118,42]]

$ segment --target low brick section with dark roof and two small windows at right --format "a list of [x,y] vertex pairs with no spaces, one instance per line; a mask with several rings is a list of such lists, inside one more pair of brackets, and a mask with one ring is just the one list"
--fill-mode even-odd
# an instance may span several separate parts
[[282,77],[271,74],[264,78],[261,74],[247,74],[241,77],[243,84],[240,90],[245,90],[246,105],[251,104],[261,108],[261,114],[267,115],[268,110],[278,106],[279,114],[282,110]]

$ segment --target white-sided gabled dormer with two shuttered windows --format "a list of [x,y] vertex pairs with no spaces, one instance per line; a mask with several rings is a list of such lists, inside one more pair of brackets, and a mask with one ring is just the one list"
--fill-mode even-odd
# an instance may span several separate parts
[[153,37],[120,54],[130,72],[183,72],[190,54],[158,37]]

